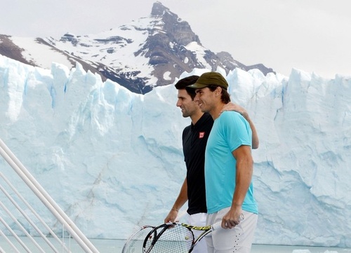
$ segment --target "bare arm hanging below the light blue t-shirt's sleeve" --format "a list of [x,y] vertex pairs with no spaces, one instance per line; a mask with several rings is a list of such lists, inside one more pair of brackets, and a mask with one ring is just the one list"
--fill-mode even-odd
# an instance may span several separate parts
[[244,203],[253,174],[253,159],[250,146],[241,145],[232,151],[232,155],[237,160],[237,174],[232,206],[222,219],[223,228],[233,228],[239,224],[239,217],[242,212],[241,205]]

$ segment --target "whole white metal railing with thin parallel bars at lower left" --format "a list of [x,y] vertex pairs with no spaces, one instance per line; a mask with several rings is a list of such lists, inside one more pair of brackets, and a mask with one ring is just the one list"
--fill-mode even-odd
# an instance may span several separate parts
[[[33,231],[37,237],[44,240],[45,244],[53,252],[71,252],[69,247],[67,247],[67,243],[65,243],[65,231],[69,233],[69,243],[70,238],[72,237],[75,242],[84,250],[84,252],[88,253],[98,253],[98,249],[86,238],[86,236],[79,230],[79,228],[74,224],[74,222],[69,219],[67,214],[61,210],[57,203],[48,195],[48,193],[43,189],[43,187],[37,182],[36,179],[28,172],[20,160],[15,157],[15,155],[8,149],[8,146],[0,139],[0,154],[6,160],[8,165],[10,165],[13,170],[18,174],[22,182],[25,182],[30,190],[39,198],[41,203],[48,209],[51,214],[58,220],[60,224],[62,224],[62,238],[60,239],[58,235],[56,235],[53,230],[46,224],[46,222],[40,217],[40,215],[34,210],[32,205],[30,205],[25,198],[20,194],[20,192],[16,189],[13,184],[6,178],[6,176],[0,171],[0,191],[4,193],[6,197],[6,203],[4,200],[0,198],[0,207],[2,212],[6,214],[7,220],[3,219],[0,216],[0,222],[4,226],[4,233],[2,229],[0,229],[0,239],[1,237],[7,242],[7,244],[11,247],[11,252],[20,252],[18,247],[22,247],[25,249],[25,252],[32,252],[31,249],[27,246],[30,242],[31,245],[35,248],[34,252],[46,252],[43,249],[42,245],[39,245],[37,239],[29,233],[29,229],[27,226],[31,226]],[[11,191],[11,193],[9,193]],[[15,196],[15,198],[13,197]],[[21,207],[21,205],[22,207]],[[15,217],[13,214],[13,209],[9,208],[15,207],[15,210],[18,211],[22,218],[24,218],[27,223],[26,227],[23,226],[22,222],[18,217]],[[1,214],[1,212],[0,212]],[[4,214],[2,216],[4,216]],[[37,222],[34,222],[33,219],[36,219]],[[11,224],[9,222],[11,221]],[[40,224],[40,228],[39,228]],[[46,231],[47,234],[44,234],[42,231]],[[25,240],[23,240],[23,236],[25,235]],[[48,237],[49,236],[49,237]],[[60,249],[57,249],[57,247]],[[17,246],[17,247],[16,247]],[[0,253],[6,252],[0,245]]]

